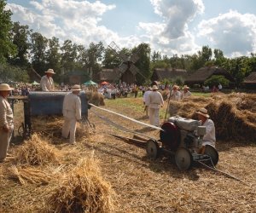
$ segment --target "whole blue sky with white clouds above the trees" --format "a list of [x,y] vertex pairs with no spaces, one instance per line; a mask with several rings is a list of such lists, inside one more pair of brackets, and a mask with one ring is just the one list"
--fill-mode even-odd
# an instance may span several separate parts
[[206,45],[227,57],[256,53],[256,0],[8,0],[7,9],[33,32],[85,48],[113,41],[168,56]]

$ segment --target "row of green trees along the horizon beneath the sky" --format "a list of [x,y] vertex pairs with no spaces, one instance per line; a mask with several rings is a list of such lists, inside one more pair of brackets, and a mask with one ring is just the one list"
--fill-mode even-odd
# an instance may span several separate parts
[[[44,37],[29,26],[11,20],[12,12],[5,9],[6,1],[0,0],[0,73],[2,80],[28,81],[27,70],[33,68],[41,76],[48,68],[55,70],[55,81],[61,83],[61,76],[71,71],[79,71],[96,80],[103,68],[118,67],[122,59],[119,54],[137,54],[136,66],[143,76],[150,78],[154,68],[185,69],[190,73],[202,66],[221,66],[230,72],[239,86],[250,72],[256,71],[256,54],[227,58],[221,49],[203,46],[194,55],[162,55],[151,51],[148,43],[141,43],[132,49],[123,48],[118,55],[104,47],[102,42],[84,45],[70,39],[60,43],[58,37]],[[89,77],[92,72],[92,76]],[[137,75],[137,83],[147,79]]]

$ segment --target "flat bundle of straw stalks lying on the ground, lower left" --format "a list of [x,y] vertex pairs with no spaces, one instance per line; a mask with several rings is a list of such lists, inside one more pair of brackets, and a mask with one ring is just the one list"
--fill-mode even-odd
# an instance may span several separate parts
[[9,176],[19,181],[21,185],[24,185],[26,181],[37,185],[45,185],[48,184],[51,179],[44,171],[31,167],[17,168],[15,165],[12,165],[8,170],[10,172]]

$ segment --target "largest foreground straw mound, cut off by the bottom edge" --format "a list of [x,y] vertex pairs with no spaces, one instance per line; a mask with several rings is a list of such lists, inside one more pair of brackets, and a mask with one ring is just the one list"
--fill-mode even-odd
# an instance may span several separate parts
[[82,158],[49,199],[54,212],[113,212],[113,189],[95,158]]

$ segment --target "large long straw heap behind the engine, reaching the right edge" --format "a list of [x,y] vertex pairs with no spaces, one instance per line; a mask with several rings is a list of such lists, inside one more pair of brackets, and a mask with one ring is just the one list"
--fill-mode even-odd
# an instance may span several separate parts
[[212,95],[171,101],[170,115],[197,119],[195,111],[205,107],[213,120],[216,136],[223,140],[256,141],[256,95]]

